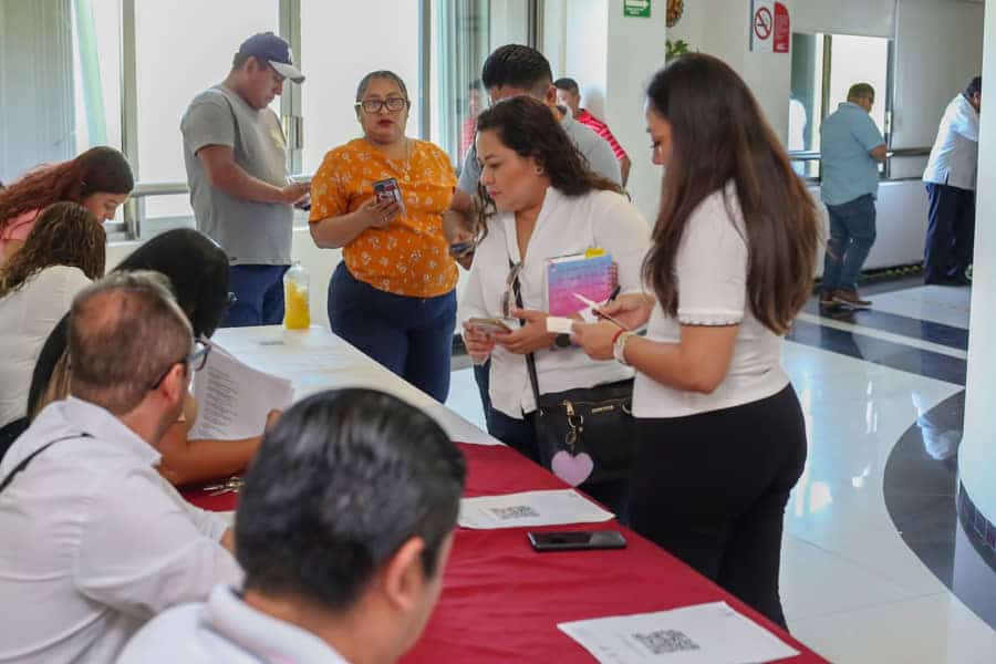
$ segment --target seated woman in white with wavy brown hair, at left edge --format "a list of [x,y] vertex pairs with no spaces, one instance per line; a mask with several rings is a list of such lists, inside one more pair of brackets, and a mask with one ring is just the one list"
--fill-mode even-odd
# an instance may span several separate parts
[[[86,208],[58,203],[39,215],[21,250],[0,267],[0,347],[4,351],[0,426],[4,429],[25,415],[31,367],[45,338],[76,293],[104,274],[105,246],[104,228]],[[12,440],[14,433],[9,436]]]

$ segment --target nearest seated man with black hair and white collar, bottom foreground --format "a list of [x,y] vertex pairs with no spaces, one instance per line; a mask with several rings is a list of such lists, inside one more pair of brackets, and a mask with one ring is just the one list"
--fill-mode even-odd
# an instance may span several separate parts
[[439,425],[393,396],[300,402],[240,492],[245,587],[163,613],[118,664],[395,662],[439,596],[464,477]]

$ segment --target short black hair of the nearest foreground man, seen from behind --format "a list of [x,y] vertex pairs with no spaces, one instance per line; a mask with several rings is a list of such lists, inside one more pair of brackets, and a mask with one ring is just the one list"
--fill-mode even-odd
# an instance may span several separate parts
[[334,390],[295,404],[246,475],[235,528],[246,588],[347,610],[412,537],[435,575],[465,474],[443,428],[396,397]]

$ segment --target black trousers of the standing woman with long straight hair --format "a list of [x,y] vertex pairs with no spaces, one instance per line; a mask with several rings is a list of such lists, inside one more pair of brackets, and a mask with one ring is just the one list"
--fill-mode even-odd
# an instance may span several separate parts
[[782,519],[806,463],[792,386],[733,408],[636,422],[633,530],[785,626]]

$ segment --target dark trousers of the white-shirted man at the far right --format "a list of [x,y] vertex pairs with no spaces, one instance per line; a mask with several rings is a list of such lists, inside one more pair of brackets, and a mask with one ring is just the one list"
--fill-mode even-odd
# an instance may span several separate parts
[[926,190],[923,279],[926,283],[964,279],[975,247],[975,191],[933,183]]

